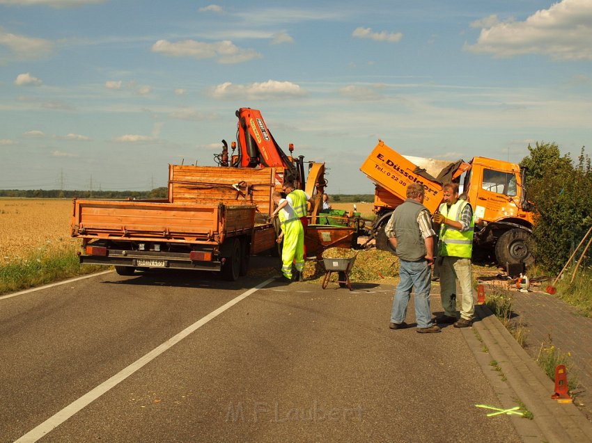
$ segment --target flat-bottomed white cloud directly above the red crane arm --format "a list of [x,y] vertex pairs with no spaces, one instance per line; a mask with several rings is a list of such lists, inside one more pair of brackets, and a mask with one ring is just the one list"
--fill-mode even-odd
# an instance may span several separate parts
[[306,92],[299,85],[290,81],[268,80],[263,83],[250,83],[248,85],[235,85],[227,81],[213,88],[211,95],[215,98],[225,99],[271,99],[274,97],[299,97],[306,95]]

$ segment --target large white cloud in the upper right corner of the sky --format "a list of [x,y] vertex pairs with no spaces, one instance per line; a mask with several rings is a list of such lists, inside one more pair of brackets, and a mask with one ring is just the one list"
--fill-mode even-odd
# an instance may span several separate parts
[[496,58],[543,54],[554,60],[592,60],[592,1],[563,0],[524,22],[510,19],[485,27],[465,50]]

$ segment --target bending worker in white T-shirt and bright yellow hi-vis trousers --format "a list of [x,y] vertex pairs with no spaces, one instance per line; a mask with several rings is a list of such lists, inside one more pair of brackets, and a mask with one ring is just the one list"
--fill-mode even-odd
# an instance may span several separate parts
[[278,243],[283,241],[281,249],[281,273],[287,280],[292,281],[292,264],[295,262],[298,280],[302,281],[304,271],[304,230],[300,218],[290,202],[281,198],[281,193],[274,192],[272,198],[277,205],[272,212],[272,218],[278,216],[281,225],[281,233]]

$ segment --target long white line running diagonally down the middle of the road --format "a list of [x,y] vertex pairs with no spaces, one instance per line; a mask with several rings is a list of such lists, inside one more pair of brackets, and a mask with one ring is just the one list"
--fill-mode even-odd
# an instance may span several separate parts
[[205,325],[205,323],[208,323],[208,321],[215,319],[215,317],[219,316],[222,312],[226,311],[226,309],[233,307],[241,300],[244,300],[244,298],[247,298],[252,293],[265,287],[267,284],[274,282],[275,280],[275,278],[265,280],[265,282],[260,283],[256,287],[251,288],[246,292],[243,292],[242,294],[240,294],[240,296],[233,298],[233,300],[230,300],[228,303],[226,303],[226,305],[222,305],[215,311],[210,312],[210,314],[206,315],[205,317],[196,321],[192,325],[188,326],[187,328],[179,332],[177,335],[166,340],[163,344],[157,346],[143,357],[140,357],[138,360],[130,364],[130,366],[128,366],[127,368],[122,369],[121,371],[116,373],[113,377],[109,378],[109,380],[102,382],[100,385],[98,385],[91,391],[87,392],[77,400],[73,401],[72,403],[70,403],[70,405],[63,408],[63,410],[56,412],[56,414],[54,414],[52,417],[49,417],[49,419],[45,420],[42,424],[30,430],[28,433],[20,437],[20,439],[16,440],[15,443],[36,442],[41,437],[45,436],[47,433],[51,432],[52,430],[60,426],[64,421],[68,420],[70,417],[72,417],[72,415],[79,412],[79,410],[85,408],[88,404],[92,403],[97,398],[102,396],[102,394],[109,391],[109,389],[118,385],[127,377],[131,376],[133,373],[141,369],[143,366],[154,360],[160,354],[164,353],[164,351],[178,344],[179,341],[185,339],[185,337],[190,335],[192,332],[195,332],[198,328],[201,328],[203,325]]

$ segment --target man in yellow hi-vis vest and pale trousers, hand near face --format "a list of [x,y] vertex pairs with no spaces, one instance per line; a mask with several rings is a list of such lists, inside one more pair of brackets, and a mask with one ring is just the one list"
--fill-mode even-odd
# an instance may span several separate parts
[[[455,328],[472,325],[475,302],[472,288],[471,255],[473,251],[474,219],[469,202],[458,198],[458,184],[442,186],[444,203],[433,216],[440,225],[438,260],[440,296],[444,314],[436,323],[454,323]],[[456,280],[462,293],[460,319],[456,316]]]

